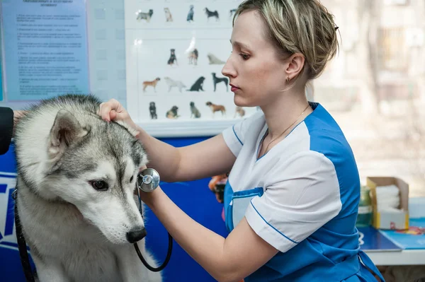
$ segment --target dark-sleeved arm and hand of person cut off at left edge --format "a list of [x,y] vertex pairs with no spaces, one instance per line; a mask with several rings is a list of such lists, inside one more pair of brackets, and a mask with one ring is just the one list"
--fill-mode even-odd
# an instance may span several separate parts
[[0,155],[8,151],[13,137],[13,129],[22,114],[23,111],[13,111],[8,107],[0,107]]

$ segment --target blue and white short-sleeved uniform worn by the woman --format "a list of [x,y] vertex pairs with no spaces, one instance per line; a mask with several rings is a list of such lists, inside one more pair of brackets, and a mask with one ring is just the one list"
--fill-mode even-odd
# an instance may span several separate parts
[[310,105],[313,112],[261,158],[263,112],[223,131],[237,156],[225,187],[227,230],[245,216],[280,251],[245,281],[376,281],[363,264],[384,281],[359,247],[361,184],[351,147],[327,110]]

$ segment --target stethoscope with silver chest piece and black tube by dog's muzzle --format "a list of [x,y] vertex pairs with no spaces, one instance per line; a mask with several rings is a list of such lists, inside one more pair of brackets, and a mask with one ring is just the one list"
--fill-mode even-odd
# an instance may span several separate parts
[[[142,214],[142,200],[140,199],[140,190],[142,192],[149,193],[154,191],[154,189],[157,189],[158,185],[159,185],[159,173],[157,172],[157,170],[154,170],[153,168],[145,168],[145,170],[140,171],[139,174],[137,175],[136,187],[137,187],[137,196],[139,197],[140,214]],[[171,249],[173,249],[173,237],[171,237],[170,233],[168,234],[169,234],[169,248],[166,253],[166,258],[164,262],[162,263],[162,265],[160,265],[157,268],[150,266],[146,262],[146,260],[142,256],[142,253],[140,252],[139,247],[137,246],[137,242],[134,243],[137,256],[139,256],[142,263],[145,264],[147,269],[149,269],[150,271],[162,271],[162,269],[164,269],[164,267],[166,266],[166,264],[168,264],[170,260]]]

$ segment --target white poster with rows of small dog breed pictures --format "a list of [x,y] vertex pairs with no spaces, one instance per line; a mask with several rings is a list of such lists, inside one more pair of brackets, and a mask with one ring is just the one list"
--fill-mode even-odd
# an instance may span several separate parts
[[137,122],[247,117],[222,68],[241,1],[125,0],[127,109]]

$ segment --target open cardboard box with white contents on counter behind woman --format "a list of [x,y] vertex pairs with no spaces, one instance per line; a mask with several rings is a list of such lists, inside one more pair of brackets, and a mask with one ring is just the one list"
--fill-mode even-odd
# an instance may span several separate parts
[[[386,230],[409,229],[409,184],[397,177],[367,177],[366,185],[370,188],[373,227]],[[397,208],[400,211],[397,213],[393,211],[378,211],[376,189],[377,187],[388,185],[395,185],[399,189],[399,206]]]

